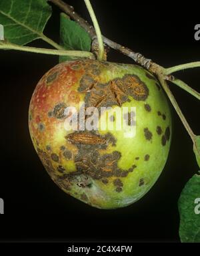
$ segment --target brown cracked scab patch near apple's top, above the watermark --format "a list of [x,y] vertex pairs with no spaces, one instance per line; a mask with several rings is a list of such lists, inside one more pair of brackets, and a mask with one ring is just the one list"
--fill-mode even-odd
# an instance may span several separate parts
[[145,101],[149,96],[149,89],[136,75],[125,75],[102,84],[89,74],[83,75],[80,80],[79,92],[85,93],[86,107],[121,106],[130,102],[129,96],[134,100]]

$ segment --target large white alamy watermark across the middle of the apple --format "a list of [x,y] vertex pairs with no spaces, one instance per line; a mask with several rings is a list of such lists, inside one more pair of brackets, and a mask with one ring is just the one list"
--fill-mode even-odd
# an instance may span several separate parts
[[70,131],[122,131],[125,138],[133,138],[136,134],[136,108],[135,107],[88,107],[85,102],[79,102],[79,110],[74,106],[64,108],[61,106],[57,112],[65,118],[65,130]]

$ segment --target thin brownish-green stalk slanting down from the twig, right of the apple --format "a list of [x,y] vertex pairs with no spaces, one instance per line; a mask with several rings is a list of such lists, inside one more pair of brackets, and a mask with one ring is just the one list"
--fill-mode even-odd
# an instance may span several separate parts
[[181,108],[177,104],[177,101],[175,100],[171,90],[169,89],[169,86],[167,85],[167,82],[162,78],[162,76],[158,76],[159,81],[161,82],[161,86],[165,90],[169,100],[171,101],[171,104],[175,108],[179,118],[181,119],[181,122],[183,122],[183,125],[185,126],[185,129],[187,130],[189,136],[191,137],[191,140],[195,144],[195,134],[191,130],[191,127],[189,126],[187,120],[185,119],[185,116],[183,115],[183,112],[181,111]]

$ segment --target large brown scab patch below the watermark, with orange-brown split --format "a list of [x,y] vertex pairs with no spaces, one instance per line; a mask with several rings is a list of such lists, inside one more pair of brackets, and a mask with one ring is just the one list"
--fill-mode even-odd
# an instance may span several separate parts
[[76,172],[71,175],[84,173],[94,180],[101,180],[107,184],[110,177],[126,177],[129,172],[137,167],[135,164],[128,170],[119,168],[118,161],[121,153],[114,150],[111,153],[100,154],[99,150],[106,150],[107,146],[115,146],[116,140],[111,133],[99,135],[97,132],[73,132],[65,137],[69,142],[77,146],[75,155]]

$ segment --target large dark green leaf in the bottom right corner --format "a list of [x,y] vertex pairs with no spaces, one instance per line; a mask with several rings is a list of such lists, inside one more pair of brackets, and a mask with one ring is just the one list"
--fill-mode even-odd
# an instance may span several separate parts
[[181,241],[200,242],[200,175],[195,174],[183,188],[179,214]]

